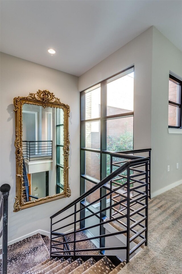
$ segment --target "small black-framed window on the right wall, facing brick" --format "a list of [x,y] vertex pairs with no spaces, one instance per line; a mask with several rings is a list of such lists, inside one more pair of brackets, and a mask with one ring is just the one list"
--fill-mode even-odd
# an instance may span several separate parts
[[181,128],[181,84],[182,81],[169,74],[168,127]]

